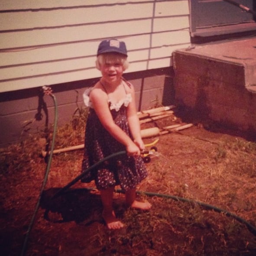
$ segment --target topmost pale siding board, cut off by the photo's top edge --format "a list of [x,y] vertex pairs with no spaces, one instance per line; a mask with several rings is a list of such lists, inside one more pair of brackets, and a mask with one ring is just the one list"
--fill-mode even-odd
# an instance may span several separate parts
[[138,2],[154,2],[155,0],[1,0],[0,10],[28,10],[41,8],[71,8],[80,6],[97,6],[97,5],[113,5],[113,4],[125,4],[125,3],[138,3]]

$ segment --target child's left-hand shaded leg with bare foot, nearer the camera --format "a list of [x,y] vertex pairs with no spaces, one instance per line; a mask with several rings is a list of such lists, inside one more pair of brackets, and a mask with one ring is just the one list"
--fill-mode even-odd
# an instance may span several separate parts
[[100,190],[100,198],[103,204],[102,217],[109,229],[119,229],[123,227],[123,223],[117,219],[113,211],[113,192],[114,188]]

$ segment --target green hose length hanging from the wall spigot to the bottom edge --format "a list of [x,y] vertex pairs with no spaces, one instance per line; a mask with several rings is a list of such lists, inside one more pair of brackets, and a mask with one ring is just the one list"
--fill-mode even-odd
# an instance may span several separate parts
[[29,235],[30,235],[30,232],[32,230],[33,224],[34,224],[35,219],[36,219],[36,214],[37,214],[37,211],[39,209],[40,200],[41,200],[41,197],[42,197],[42,193],[43,193],[43,191],[45,189],[45,185],[47,183],[47,179],[48,179],[48,175],[49,175],[49,171],[50,171],[50,166],[51,166],[51,163],[52,163],[52,154],[53,154],[54,143],[55,143],[55,136],[56,136],[56,130],[57,130],[58,109],[57,109],[57,101],[56,101],[55,96],[52,93],[49,93],[49,95],[53,98],[54,105],[55,105],[55,117],[54,117],[54,126],[53,126],[51,152],[49,154],[49,159],[48,159],[47,166],[46,166],[45,178],[44,178],[43,183],[42,183],[42,187],[41,187],[41,190],[40,190],[39,198],[38,198],[38,201],[36,203],[36,207],[35,207],[34,213],[32,215],[31,221],[29,223],[29,227],[28,227],[28,229],[26,231],[26,236],[25,236],[25,240],[24,240],[24,243],[23,243],[23,247],[22,247],[22,251],[21,251],[20,256],[23,256],[26,253],[27,243],[28,243],[28,240],[29,240]]

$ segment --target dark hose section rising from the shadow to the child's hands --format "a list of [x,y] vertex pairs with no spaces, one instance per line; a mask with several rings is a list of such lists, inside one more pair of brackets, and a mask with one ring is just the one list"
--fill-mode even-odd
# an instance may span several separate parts
[[101,159],[100,161],[98,161],[97,163],[95,163],[94,165],[91,165],[89,168],[87,168],[84,172],[82,172],[80,175],[78,175],[76,178],[74,178],[71,182],[69,182],[67,185],[65,185],[65,187],[61,188],[59,191],[57,191],[51,199],[54,199],[54,198],[57,198],[59,195],[61,195],[64,191],[66,191],[68,188],[70,188],[72,185],[74,185],[76,182],[78,182],[81,178],[84,177],[84,175],[87,173],[87,172],[90,172],[92,169],[96,168],[98,165],[104,163],[105,161],[109,160],[109,159],[112,159],[113,157],[116,157],[116,156],[120,156],[120,155],[124,155],[126,154],[127,152],[124,150],[124,151],[120,151],[120,152],[116,152],[116,153],[113,153],[112,155],[110,156],[106,156],[105,158]]

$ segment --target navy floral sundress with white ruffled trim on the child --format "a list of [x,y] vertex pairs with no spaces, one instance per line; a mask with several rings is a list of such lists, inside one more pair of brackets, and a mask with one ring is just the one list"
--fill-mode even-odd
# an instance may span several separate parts
[[[128,82],[127,84],[130,86]],[[86,171],[89,166],[99,162],[106,156],[126,150],[125,146],[114,139],[100,123],[89,101],[90,91],[91,88],[84,92],[84,103],[86,106],[90,107],[90,110],[85,129],[82,172]],[[131,94],[126,93],[126,98],[121,100],[118,104],[109,102],[110,112],[114,122],[129,136],[131,136],[131,134],[126,117],[126,107],[130,101]],[[99,190],[120,185],[120,187],[126,191],[136,188],[136,185],[146,178],[146,176],[146,166],[140,156],[133,157],[123,154],[114,159],[110,159],[108,162],[104,162],[90,172],[86,172],[81,181],[91,182],[94,180]]]

